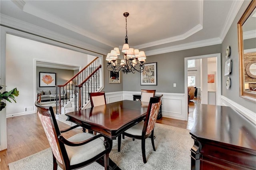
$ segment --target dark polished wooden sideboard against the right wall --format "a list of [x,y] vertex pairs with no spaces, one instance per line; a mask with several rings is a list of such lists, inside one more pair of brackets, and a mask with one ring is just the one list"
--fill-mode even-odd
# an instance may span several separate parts
[[256,125],[226,106],[197,104],[192,170],[256,169]]

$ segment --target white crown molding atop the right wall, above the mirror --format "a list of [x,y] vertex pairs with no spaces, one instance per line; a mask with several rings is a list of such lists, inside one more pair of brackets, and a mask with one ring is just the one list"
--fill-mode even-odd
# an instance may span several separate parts
[[227,16],[226,21],[225,21],[224,28],[222,29],[222,32],[220,33],[221,42],[226,37],[226,35],[228,33],[228,30],[230,29],[230,26],[234,22],[234,19],[236,18],[236,15],[237,15],[238,11],[240,10],[243,2],[244,2],[244,0],[234,0],[232,2],[231,8],[228,12],[228,16]]

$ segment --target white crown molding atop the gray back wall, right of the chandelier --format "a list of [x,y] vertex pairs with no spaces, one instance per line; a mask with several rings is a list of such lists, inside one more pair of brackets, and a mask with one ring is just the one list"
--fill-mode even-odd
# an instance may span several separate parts
[[160,48],[160,49],[153,49],[153,50],[145,51],[145,53],[147,56],[157,55],[157,54],[162,54],[162,53],[170,53],[173,51],[180,51],[180,50],[184,50],[184,49],[191,49],[191,48],[198,48],[198,47],[205,47],[205,46],[209,46],[209,45],[221,44],[221,42],[222,41],[220,40],[220,38],[212,38],[212,39],[202,40],[202,41],[198,41],[198,42],[174,45],[171,47],[164,47],[164,48]]

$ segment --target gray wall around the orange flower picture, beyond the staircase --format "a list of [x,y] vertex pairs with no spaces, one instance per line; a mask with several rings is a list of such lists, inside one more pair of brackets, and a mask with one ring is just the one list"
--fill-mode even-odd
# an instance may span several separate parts
[[[56,85],[63,85],[74,76],[73,70],[55,69],[55,68],[48,68],[48,67],[36,67],[36,89],[37,90],[55,89],[55,87],[39,87],[39,72],[56,73]],[[77,73],[78,71],[75,71],[75,72]]]

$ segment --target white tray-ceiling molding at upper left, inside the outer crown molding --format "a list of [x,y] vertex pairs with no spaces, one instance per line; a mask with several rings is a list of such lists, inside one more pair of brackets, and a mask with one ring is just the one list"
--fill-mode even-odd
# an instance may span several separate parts
[[76,27],[76,26],[74,26],[74,24],[70,24],[70,23],[66,22],[65,20],[62,20],[61,18],[58,18],[50,13],[40,10],[39,8],[36,8],[35,6],[32,6],[31,4],[25,4],[23,7],[23,12],[26,12],[28,14],[31,14],[33,16],[36,16],[38,18],[41,18],[43,20],[46,20],[48,22],[51,22],[53,24],[56,24],[63,28],[66,28],[68,30],[71,30],[71,31],[81,34],[83,36],[86,36],[88,38],[91,38],[93,40],[96,40],[105,45],[110,45],[112,47],[117,46],[116,44],[114,44],[110,41],[107,41],[107,40],[97,36],[96,34],[92,34],[91,32],[88,32],[82,28]]

